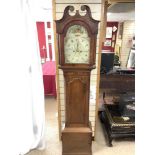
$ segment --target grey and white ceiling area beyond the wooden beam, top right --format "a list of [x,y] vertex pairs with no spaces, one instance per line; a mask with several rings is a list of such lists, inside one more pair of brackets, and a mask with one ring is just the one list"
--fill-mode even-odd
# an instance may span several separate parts
[[135,3],[115,3],[109,6],[108,21],[135,20]]

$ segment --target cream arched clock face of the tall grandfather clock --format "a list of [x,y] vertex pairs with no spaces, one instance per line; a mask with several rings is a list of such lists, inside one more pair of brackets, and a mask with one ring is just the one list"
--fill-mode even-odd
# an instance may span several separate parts
[[85,27],[73,25],[64,38],[65,63],[89,63],[90,38]]

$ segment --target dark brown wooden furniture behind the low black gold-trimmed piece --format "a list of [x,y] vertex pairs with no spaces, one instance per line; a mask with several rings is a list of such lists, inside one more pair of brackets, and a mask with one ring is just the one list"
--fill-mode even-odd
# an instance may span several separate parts
[[[131,73],[131,74],[130,74]],[[103,89],[103,96],[106,93],[120,94],[128,91],[135,91],[134,70],[118,70],[112,74],[101,74],[100,89]]]

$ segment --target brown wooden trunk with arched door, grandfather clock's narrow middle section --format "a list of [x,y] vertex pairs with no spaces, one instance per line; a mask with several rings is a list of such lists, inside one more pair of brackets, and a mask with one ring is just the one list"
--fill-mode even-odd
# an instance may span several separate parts
[[64,71],[66,127],[89,126],[90,71]]

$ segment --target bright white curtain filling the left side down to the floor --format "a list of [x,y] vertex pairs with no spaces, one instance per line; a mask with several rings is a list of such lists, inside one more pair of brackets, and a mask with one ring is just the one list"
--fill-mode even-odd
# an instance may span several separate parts
[[0,2],[0,137],[3,155],[44,149],[44,90],[34,20],[39,1]]

